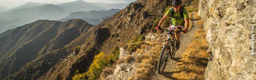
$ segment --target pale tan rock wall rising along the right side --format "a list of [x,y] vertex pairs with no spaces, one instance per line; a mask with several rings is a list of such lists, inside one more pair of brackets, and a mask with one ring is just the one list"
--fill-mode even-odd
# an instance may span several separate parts
[[[251,54],[256,0],[200,0],[211,61],[206,80],[255,80],[256,56]],[[255,34],[255,33],[254,33]]]

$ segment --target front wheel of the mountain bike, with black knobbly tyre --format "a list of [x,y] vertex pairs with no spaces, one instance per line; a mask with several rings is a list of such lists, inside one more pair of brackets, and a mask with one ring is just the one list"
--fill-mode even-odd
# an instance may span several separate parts
[[169,50],[169,46],[165,45],[161,51],[159,61],[157,64],[157,73],[158,74],[162,74],[164,71],[164,68],[166,66],[167,59],[168,59],[168,50]]

